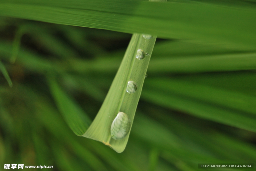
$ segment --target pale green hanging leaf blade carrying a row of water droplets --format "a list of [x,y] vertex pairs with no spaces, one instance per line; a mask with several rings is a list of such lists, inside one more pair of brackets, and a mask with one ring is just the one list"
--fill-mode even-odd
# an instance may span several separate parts
[[[124,150],[129,138],[155,39],[156,37],[145,39],[141,34],[132,36],[108,95],[83,136],[101,141],[119,153]],[[142,49],[143,51],[141,51]],[[138,51],[141,53],[138,54]],[[112,122],[119,112],[123,112],[128,116],[128,120],[121,119],[120,124],[127,124],[123,126],[124,129],[127,129],[125,130],[126,136],[120,137],[121,139],[117,139],[113,135],[111,137],[110,131]]]

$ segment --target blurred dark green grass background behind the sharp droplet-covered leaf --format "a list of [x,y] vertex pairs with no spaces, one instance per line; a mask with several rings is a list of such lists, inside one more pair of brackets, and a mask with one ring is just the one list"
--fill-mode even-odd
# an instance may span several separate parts
[[0,18],[0,170],[16,163],[65,171],[190,171],[198,163],[255,161],[256,54],[247,48],[158,39],[125,151],[75,135],[47,78],[56,77],[66,100],[93,120],[130,38]]

